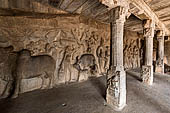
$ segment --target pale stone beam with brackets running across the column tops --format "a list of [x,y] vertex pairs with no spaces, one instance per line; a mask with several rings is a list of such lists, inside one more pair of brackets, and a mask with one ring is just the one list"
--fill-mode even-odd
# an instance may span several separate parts
[[154,20],[157,29],[164,30],[166,35],[170,35],[170,31],[166,28],[165,24],[159,20],[158,16],[143,0],[99,0],[99,2],[108,6],[109,9],[117,6],[129,8],[130,13],[134,14],[141,20]]

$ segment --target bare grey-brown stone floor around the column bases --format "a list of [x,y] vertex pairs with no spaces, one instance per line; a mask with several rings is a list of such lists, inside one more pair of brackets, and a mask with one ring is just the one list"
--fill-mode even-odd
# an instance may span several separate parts
[[[127,106],[118,113],[170,113],[170,75],[154,75],[146,86],[127,74]],[[0,100],[0,113],[117,113],[105,106],[105,77]]]

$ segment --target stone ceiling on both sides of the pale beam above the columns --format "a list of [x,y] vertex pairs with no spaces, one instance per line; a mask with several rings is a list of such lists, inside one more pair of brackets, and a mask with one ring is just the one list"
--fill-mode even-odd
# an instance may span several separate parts
[[[136,1],[136,0],[130,0]],[[139,0],[142,1],[142,0]],[[170,29],[170,0],[144,0],[161,22]],[[134,10],[132,8],[132,10]],[[136,9],[135,9],[136,10]],[[133,13],[133,11],[132,11]],[[133,14],[135,15],[136,12]],[[137,13],[141,13],[138,11]],[[80,15],[108,23],[108,6],[99,0],[0,0],[0,15],[55,17]],[[131,15],[125,28],[142,32],[142,21]]]

